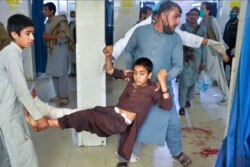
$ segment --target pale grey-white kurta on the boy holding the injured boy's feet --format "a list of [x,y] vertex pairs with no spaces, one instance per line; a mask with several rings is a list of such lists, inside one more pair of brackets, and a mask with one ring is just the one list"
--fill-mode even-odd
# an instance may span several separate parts
[[0,166],[6,150],[12,167],[38,166],[22,104],[35,120],[42,117],[23,75],[22,49],[12,42],[0,52]]

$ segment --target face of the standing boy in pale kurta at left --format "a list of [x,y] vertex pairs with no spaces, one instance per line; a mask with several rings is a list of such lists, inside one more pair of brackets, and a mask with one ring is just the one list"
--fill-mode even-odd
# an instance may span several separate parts
[[20,48],[30,48],[34,41],[34,27],[26,27],[20,32],[20,36],[12,32],[11,35],[14,38],[14,42],[20,47]]

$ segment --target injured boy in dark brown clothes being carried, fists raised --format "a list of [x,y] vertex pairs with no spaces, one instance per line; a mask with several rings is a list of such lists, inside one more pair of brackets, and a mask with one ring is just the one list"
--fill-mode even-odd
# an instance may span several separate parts
[[[112,50],[112,46],[106,49]],[[104,52],[104,53],[110,53]],[[112,52],[111,52],[112,53]],[[118,154],[130,159],[136,136],[153,104],[159,105],[164,110],[172,107],[172,98],[167,88],[167,71],[157,73],[158,83],[150,81],[153,69],[152,62],[147,58],[135,61],[132,72],[115,69],[112,65],[112,55],[105,55],[106,72],[116,79],[127,79],[128,83],[116,106],[96,106],[91,109],[59,109],[44,105],[36,97],[39,107],[47,113],[49,127],[74,128],[77,132],[89,131],[100,137],[108,137],[121,133]],[[160,85],[160,88],[159,86]],[[36,130],[36,122],[25,113],[26,121]]]

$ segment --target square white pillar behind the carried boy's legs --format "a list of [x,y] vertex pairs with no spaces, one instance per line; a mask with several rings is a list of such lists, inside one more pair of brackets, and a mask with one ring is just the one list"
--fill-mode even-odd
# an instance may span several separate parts
[[[106,72],[102,49],[105,46],[104,1],[76,1],[77,105],[92,108],[106,105]],[[78,145],[106,145],[105,138],[83,132]]]

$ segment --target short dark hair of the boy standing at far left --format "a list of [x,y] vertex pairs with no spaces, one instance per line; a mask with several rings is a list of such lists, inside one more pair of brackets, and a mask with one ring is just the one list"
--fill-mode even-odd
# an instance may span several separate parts
[[22,14],[14,14],[9,17],[7,22],[7,31],[9,36],[11,36],[11,32],[15,32],[20,36],[20,32],[26,27],[35,27],[33,21]]

